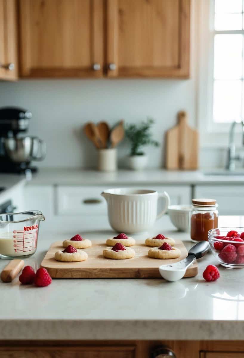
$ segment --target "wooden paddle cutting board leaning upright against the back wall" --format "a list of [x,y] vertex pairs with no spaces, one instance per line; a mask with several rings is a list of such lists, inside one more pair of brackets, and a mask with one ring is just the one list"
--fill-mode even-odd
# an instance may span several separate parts
[[198,132],[187,124],[187,113],[178,113],[178,124],[166,132],[166,168],[198,168]]

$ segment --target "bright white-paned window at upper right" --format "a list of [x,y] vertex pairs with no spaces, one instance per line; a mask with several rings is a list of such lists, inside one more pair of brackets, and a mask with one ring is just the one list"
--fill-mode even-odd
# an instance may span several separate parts
[[[244,0],[212,0],[213,126],[244,116]],[[211,61],[211,59],[210,59]]]

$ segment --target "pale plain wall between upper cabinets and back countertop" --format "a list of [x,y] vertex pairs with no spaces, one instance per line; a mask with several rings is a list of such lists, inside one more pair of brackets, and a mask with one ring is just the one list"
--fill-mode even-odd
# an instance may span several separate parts
[[[154,139],[160,147],[147,147],[150,167],[164,161],[165,131],[176,124],[179,110],[195,120],[195,81],[166,79],[100,80],[22,80],[0,83],[0,106],[22,106],[33,113],[29,135],[47,143],[47,158],[42,167],[96,166],[96,150],[83,135],[87,121],[108,121],[113,125],[121,118],[140,122],[154,118]],[[120,164],[129,153],[125,141],[118,147]]]

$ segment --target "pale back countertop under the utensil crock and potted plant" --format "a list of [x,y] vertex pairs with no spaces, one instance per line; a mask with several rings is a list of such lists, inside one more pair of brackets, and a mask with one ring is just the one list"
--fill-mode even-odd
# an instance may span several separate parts
[[154,185],[243,184],[243,175],[204,175],[203,171],[118,170],[104,173],[81,169],[40,169],[28,185]]

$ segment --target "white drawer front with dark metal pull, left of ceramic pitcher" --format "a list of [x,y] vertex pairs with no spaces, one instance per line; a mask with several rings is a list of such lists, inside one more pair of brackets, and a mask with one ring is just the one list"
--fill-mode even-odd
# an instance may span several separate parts
[[107,214],[106,200],[99,187],[57,187],[57,214]]

